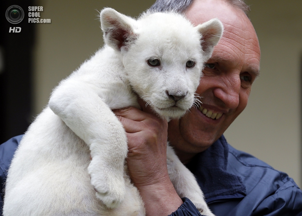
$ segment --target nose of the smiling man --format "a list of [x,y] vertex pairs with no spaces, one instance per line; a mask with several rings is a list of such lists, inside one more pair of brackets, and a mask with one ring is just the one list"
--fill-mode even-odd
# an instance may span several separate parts
[[224,102],[227,108],[236,109],[239,105],[241,81],[237,74],[229,74],[222,78],[221,85],[214,89],[215,97]]

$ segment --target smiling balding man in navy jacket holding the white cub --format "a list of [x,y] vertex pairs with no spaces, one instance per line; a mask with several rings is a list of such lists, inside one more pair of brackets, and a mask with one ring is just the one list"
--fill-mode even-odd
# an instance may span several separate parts
[[[169,124],[142,101],[143,110],[130,107],[115,111],[127,132],[127,165],[147,215],[200,215],[190,200],[177,195],[169,180],[167,138],[197,177],[217,216],[302,215],[302,192],[294,181],[233,149],[222,135],[246,107],[259,74],[260,49],[245,13],[248,7],[240,0],[162,0],[153,8],[182,11],[194,25],[217,17],[223,22],[224,34],[205,65],[197,89],[202,107],[191,108]],[[0,147],[16,146],[19,139]]]

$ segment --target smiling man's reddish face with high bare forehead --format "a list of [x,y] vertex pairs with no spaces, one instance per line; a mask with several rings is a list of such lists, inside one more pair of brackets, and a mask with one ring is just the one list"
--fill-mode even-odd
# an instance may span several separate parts
[[[259,73],[260,48],[244,12],[223,0],[194,0],[185,14],[194,25],[217,17],[224,26],[196,91],[202,108],[191,108],[180,120],[169,123],[169,140],[175,150],[196,154],[213,144],[246,107]],[[220,118],[212,119],[215,114]]]

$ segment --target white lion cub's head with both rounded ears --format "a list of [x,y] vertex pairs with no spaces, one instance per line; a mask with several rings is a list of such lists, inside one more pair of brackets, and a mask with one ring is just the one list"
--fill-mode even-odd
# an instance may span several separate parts
[[198,101],[204,63],[223,32],[218,19],[193,27],[174,12],[147,11],[134,20],[112,8],[100,17],[105,43],[120,56],[133,91],[154,111],[179,118]]

